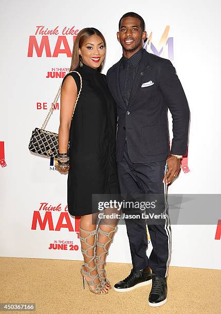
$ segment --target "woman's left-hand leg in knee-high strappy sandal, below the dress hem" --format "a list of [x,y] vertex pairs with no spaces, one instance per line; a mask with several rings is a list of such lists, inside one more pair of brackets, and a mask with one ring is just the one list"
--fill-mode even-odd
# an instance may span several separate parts
[[[106,293],[107,289],[101,289],[101,283],[96,267],[96,221],[97,214],[89,214],[81,217],[80,220],[80,241],[81,250],[84,257],[84,265],[82,266],[82,276],[89,284],[91,291],[95,293]],[[95,222],[95,223],[94,223]]]

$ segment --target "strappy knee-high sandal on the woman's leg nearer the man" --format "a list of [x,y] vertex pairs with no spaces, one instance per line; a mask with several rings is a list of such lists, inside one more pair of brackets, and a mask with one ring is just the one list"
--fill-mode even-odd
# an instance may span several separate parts
[[[97,243],[96,243],[97,247],[99,246],[99,247],[103,248],[103,252],[101,252],[99,255],[98,255],[98,252],[96,253],[96,263],[97,263],[97,270],[98,270],[99,278],[100,278],[102,286],[105,287],[107,290],[109,290],[112,288],[112,286],[111,286],[109,280],[106,278],[106,271],[104,269],[104,266],[106,265],[106,256],[108,254],[108,249],[109,249],[109,247],[107,249],[107,245],[108,244],[111,245],[111,243],[113,242],[113,237],[114,237],[114,233],[116,231],[117,226],[113,227],[111,225],[107,225],[105,222],[103,222],[102,224],[104,224],[107,227],[113,228],[113,230],[107,232],[107,231],[103,231],[99,225],[98,226]],[[105,243],[98,242],[99,233],[101,233],[102,235],[107,237],[107,239],[108,239],[107,242],[105,242]],[[112,233],[113,233],[113,235],[111,237]],[[101,259],[103,254],[105,254],[104,260]],[[104,265],[104,266],[102,268],[100,268],[100,265]]]

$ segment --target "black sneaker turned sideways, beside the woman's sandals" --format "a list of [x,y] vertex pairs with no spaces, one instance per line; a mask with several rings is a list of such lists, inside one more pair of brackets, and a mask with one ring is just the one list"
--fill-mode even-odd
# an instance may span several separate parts
[[141,286],[146,286],[151,284],[152,278],[150,267],[145,269],[135,270],[132,268],[131,273],[124,280],[116,283],[114,289],[117,292],[126,292],[134,290]]

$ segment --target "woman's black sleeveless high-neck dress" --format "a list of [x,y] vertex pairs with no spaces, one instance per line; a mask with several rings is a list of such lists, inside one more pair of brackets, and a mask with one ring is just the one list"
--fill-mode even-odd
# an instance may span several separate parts
[[[85,64],[76,71],[82,76],[82,90],[70,125],[67,205],[71,215],[79,216],[98,211],[93,208],[91,194],[119,194],[120,189],[116,103],[108,90],[106,75]],[[79,75],[68,75],[74,78],[79,91]]]

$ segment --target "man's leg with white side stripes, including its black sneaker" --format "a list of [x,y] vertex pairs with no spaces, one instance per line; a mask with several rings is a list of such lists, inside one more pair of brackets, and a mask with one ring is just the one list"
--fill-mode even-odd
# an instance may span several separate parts
[[[165,215],[157,222],[148,220],[153,250],[149,259],[152,269],[152,289],[149,296],[150,306],[160,306],[167,302],[167,273],[171,250],[171,229],[168,215],[168,204],[165,201],[162,183],[166,161],[137,164],[136,172],[140,185],[148,197],[156,196],[157,204],[154,213]],[[153,209],[152,209],[153,213]]]

